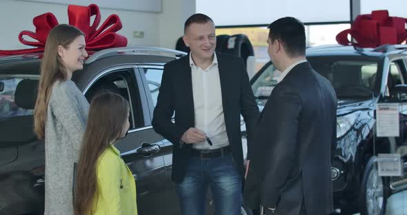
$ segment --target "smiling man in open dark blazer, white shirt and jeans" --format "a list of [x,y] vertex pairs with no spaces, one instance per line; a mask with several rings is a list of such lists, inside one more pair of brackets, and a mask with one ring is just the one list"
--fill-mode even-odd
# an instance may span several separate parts
[[216,214],[238,215],[244,174],[240,114],[248,144],[259,115],[248,74],[241,59],[215,53],[215,24],[206,15],[188,18],[183,41],[190,54],[164,66],[152,126],[174,145],[172,181],[181,213],[206,214],[209,186]]

